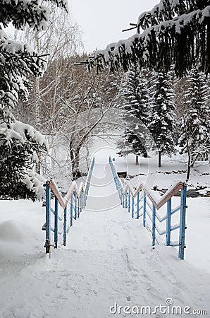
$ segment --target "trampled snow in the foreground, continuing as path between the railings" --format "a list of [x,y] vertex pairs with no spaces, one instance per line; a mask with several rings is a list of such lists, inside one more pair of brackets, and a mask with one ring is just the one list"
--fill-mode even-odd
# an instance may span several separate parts
[[42,205],[0,201],[0,317],[137,317],[128,312],[154,310],[166,299],[167,313],[156,310],[153,317],[173,316],[172,300],[210,317],[209,198],[187,199],[187,249],[180,261],[173,247],[152,248],[142,219],[132,220],[119,205],[102,161],[96,155],[87,208],[70,228],[67,247],[52,250],[51,259],[44,254]]

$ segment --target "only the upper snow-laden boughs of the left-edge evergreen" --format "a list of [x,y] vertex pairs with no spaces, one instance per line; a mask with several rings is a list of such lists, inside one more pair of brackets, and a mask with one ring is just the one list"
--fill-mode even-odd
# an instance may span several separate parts
[[[54,4],[68,10],[68,1],[54,0]],[[28,25],[34,30],[46,30],[50,18],[49,6],[39,1],[1,1],[1,103],[10,108],[16,107],[18,99],[28,97],[27,77],[42,76],[47,69],[47,61],[30,45],[11,40],[5,30],[10,23],[18,30]]]

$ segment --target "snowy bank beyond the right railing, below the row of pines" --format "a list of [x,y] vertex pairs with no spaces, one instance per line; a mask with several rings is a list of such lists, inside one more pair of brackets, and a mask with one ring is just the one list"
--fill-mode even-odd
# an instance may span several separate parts
[[[174,181],[178,179],[185,182],[187,175],[187,165],[183,156],[168,158],[162,156],[161,167],[158,167],[157,155],[152,158],[140,158],[140,165],[135,165],[135,156],[128,155],[126,158],[116,158],[116,166],[119,171],[128,171],[132,177],[130,184],[137,187],[137,184],[148,182],[158,189],[168,189]],[[188,189],[204,188],[201,193],[210,192],[210,166],[209,163],[197,162],[191,170],[190,180],[187,182]]]

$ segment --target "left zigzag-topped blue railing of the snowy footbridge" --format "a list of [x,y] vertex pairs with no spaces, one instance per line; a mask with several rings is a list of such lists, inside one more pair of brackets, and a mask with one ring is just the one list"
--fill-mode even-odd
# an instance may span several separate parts
[[54,179],[50,179],[44,184],[46,189],[46,223],[42,230],[46,230],[44,244],[46,253],[50,252],[51,247],[56,249],[59,245],[66,246],[66,235],[70,227],[73,226],[73,220],[80,218],[80,213],[86,206],[93,167],[94,158],[89,167],[85,184],[82,182],[78,187],[74,181],[65,197],[61,196]]

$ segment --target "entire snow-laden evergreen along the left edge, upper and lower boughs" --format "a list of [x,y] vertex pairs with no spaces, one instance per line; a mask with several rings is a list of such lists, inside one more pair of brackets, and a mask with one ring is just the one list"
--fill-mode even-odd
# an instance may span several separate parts
[[[44,54],[27,44],[11,40],[4,28],[12,23],[19,30],[29,25],[44,30],[49,8],[39,0],[3,0],[0,4],[0,196],[41,199],[43,178],[33,172],[37,152],[46,149],[43,136],[32,126],[18,122],[11,113],[18,100],[27,98],[28,76],[41,76],[47,68]],[[65,0],[53,1],[66,8]]]

